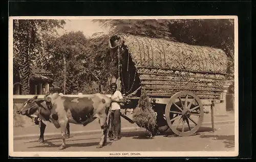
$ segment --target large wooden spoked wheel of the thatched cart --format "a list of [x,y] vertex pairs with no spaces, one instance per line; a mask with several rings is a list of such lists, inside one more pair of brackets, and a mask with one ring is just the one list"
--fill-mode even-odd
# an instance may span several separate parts
[[178,136],[194,134],[203,122],[203,104],[193,92],[181,91],[170,97],[165,106],[165,118]]

